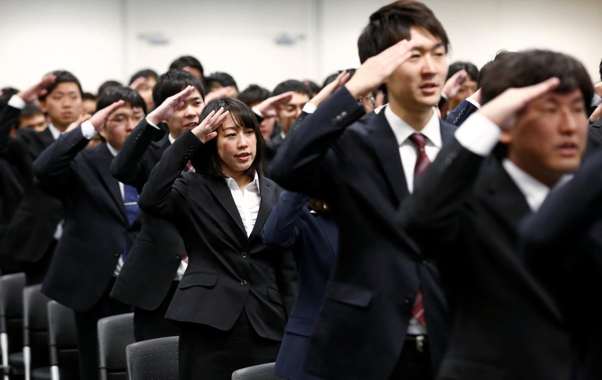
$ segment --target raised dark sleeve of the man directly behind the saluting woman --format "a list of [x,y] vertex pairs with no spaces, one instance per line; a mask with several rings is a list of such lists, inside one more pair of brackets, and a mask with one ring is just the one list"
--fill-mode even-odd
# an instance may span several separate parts
[[119,154],[111,162],[113,177],[120,182],[135,186],[140,191],[146,183],[147,173],[151,170],[146,167],[147,162],[143,159],[144,153],[160,132],[159,129],[149,124],[146,118],[140,120],[140,123],[123,142]]

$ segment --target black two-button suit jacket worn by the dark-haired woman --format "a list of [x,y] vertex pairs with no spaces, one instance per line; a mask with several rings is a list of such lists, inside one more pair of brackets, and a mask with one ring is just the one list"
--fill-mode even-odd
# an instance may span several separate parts
[[188,268],[166,318],[229,330],[243,311],[259,336],[281,340],[296,284],[292,255],[268,248],[261,228],[279,188],[260,177],[261,204],[247,237],[223,177],[182,173],[202,142],[182,134],[152,170],[140,207],[172,221],[188,253]]

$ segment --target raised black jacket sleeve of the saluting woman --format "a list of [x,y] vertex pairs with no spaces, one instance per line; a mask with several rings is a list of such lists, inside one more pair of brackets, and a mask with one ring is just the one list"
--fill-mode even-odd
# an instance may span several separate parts
[[141,209],[165,219],[179,215],[188,197],[188,180],[182,170],[200,144],[199,138],[188,130],[163,152],[138,198]]

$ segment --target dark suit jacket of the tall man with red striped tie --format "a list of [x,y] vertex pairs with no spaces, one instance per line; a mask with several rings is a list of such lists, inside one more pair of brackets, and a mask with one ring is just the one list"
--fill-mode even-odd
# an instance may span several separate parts
[[[408,186],[393,130],[383,111],[353,123],[364,114],[341,88],[287,136],[272,164],[280,185],[326,200],[340,233],[305,368],[330,379],[388,379],[420,287],[436,372],[447,340],[447,302],[433,262],[394,225]],[[455,127],[440,126],[448,141]]]

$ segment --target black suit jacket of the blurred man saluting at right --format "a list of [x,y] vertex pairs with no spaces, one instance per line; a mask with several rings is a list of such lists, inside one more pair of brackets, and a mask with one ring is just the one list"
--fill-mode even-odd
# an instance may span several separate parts
[[501,162],[483,160],[448,144],[400,214],[400,227],[441,257],[448,283],[452,328],[439,379],[566,380],[564,320],[518,253],[529,206]]

